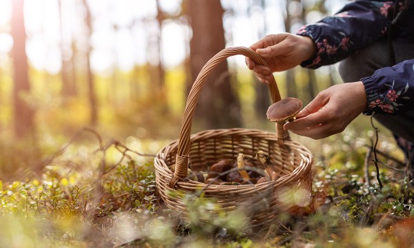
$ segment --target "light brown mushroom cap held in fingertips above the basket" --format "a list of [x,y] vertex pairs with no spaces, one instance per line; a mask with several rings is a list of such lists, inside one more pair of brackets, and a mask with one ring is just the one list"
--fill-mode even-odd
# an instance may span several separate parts
[[302,109],[302,101],[293,97],[287,97],[273,103],[266,112],[270,121],[287,121],[293,118]]

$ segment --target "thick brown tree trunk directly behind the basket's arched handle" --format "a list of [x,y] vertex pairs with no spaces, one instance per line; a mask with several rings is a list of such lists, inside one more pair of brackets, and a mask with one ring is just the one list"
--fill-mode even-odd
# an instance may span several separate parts
[[[190,41],[190,72],[193,83],[201,68],[226,46],[223,14],[219,0],[188,0],[189,23],[193,29]],[[195,121],[205,128],[239,126],[239,101],[230,85],[227,63],[220,63],[208,76],[199,96]]]

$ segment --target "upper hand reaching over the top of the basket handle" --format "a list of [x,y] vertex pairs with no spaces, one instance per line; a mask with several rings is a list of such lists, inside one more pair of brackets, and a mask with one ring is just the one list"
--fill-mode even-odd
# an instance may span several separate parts
[[250,46],[268,64],[268,67],[256,65],[246,58],[246,65],[253,70],[259,81],[268,83],[272,72],[288,70],[303,61],[311,59],[316,52],[315,43],[309,37],[295,34],[270,34]]

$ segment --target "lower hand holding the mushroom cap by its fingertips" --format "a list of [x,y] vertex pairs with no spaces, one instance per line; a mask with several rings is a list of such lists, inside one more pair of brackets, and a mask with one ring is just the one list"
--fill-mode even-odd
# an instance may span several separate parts
[[364,84],[343,83],[320,92],[284,130],[319,139],[344,131],[345,127],[366,110]]

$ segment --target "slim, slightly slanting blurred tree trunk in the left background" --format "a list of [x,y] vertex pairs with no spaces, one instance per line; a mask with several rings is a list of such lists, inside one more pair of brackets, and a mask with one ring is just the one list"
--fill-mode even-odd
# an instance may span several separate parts
[[88,77],[88,94],[90,104],[90,125],[94,127],[98,122],[98,109],[97,109],[97,97],[95,92],[95,81],[90,66],[90,53],[92,48],[90,47],[90,34],[92,34],[92,17],[90,16],[90,9],[86,0],[82,0],[83,7],[85,8],[85,24],[86,24],[86,36],[88,37],[87,48],[86,48],[86,70]]

